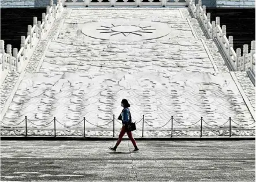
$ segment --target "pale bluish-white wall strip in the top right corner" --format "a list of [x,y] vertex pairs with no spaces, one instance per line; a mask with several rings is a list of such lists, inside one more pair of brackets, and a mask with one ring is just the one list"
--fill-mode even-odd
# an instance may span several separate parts
[[255,0],[217,0],[217,7],[255,7]]

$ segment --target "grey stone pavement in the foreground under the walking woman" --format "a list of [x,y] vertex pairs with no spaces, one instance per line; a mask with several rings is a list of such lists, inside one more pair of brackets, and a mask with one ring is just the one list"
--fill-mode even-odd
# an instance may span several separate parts
[[255,181],[255,141],[1,141],[1,181]]

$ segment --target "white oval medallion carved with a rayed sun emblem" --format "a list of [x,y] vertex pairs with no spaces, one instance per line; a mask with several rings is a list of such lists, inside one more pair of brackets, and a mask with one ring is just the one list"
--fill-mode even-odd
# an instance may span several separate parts
[[168,24],[151,21],[105,20],[91,22],[81,29],[84,35],[102,40],[149,40],[170,33]]

